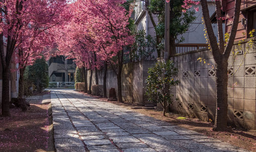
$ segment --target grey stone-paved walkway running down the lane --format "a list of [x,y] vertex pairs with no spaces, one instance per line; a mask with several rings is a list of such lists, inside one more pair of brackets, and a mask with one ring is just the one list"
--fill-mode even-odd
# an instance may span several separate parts
[[56,151],[246,151],[73,90],[52,90]]

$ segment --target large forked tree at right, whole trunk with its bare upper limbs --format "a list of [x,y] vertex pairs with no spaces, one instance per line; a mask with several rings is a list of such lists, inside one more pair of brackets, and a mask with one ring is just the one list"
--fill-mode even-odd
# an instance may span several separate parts
[[[216,14],[217,18],[222,17],[221,12],[221,1],[215,1],[216,4]],[[234,39],[237,34],[239,16],[240,16],[240,7],[241,0],[236,0],[234,2],[234,14],[233,14],[233,25],[229,34],[229,39],[227,44],[223,39],[223,28],[222,28],[222,20],[217,19],[218,25],[218,37],[219,43],[214,34],[214,30],[211,26],[211,20],[209,16],[209,10],[206,0],[201,0],[202,12],[204,17],[204,23],[207,30],[207,36],[211,48],[212,55],[214,56],[214,60],[216,62],[216,117],[215,117],[215,125],[214,131],[225,131],[227,129],[227,84],[228,84],[228,75],[227,75],[227,67],[228,67],[228,58],[230,52],[232,50]]]

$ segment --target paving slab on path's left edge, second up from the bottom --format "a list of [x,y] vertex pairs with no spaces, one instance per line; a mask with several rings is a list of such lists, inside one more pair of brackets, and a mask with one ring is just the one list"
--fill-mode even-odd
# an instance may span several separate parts
[[55,141],[55,147],[83,147],[83,143],[78,138],[57,138]]

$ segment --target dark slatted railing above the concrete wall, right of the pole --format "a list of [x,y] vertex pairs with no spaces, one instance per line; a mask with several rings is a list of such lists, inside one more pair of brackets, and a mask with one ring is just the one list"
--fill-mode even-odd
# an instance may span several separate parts
[[198,49],[205,49],[207,47],[208,47],[207,44],[177,44],[176,54],[187,53],[187,52],[195,51]]

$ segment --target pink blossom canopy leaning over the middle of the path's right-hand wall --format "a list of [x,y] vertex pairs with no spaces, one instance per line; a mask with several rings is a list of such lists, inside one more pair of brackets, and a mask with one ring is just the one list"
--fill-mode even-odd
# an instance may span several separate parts
[[100,68],[133,44],[127,25],[132,9],[126,11],[124,0],[77,0],[69,5],[69,22],[55,29],[55,55],[74,58],[78,67]]

